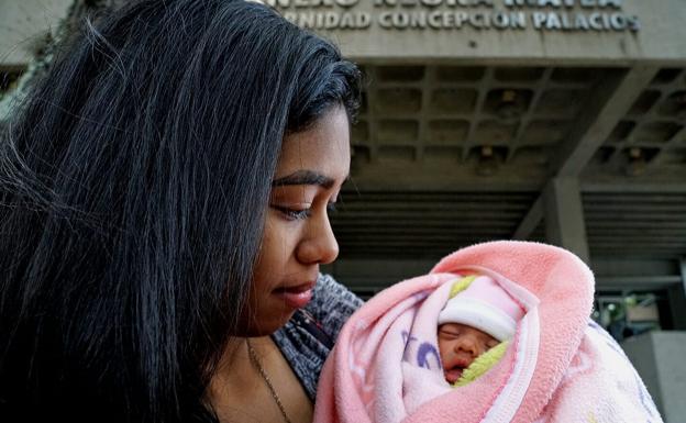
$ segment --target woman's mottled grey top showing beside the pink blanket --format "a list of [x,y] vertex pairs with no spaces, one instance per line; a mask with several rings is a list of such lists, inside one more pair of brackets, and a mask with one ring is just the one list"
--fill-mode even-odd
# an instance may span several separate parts
[[314,401],[319,374],[343,323],[362,303],[331,276],[320,274],[305,311],[297,311],[272,335],[310,400]]

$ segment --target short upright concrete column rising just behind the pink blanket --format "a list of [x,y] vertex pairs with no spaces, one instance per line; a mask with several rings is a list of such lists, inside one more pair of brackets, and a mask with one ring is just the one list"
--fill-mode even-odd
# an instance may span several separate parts
[[560,177],[550,180],[543,190],[545,238],[590,263],[586,241],[586,223],[578,179]]

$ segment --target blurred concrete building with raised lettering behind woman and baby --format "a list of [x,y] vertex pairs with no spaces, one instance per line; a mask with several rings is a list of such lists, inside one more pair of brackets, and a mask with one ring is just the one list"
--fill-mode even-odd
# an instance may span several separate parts
[[[683,422],[686,2],[265,2],[366,76],[325,270],[370,297],[474,243],[563,246],[596,275],[593,318]],[[62,19],[111,3],[0,0],[5,98]]]

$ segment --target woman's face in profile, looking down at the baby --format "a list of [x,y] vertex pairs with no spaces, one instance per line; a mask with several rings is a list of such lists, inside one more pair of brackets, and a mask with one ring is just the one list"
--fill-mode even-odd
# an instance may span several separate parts
[[246,335],[281,327],[312,296],[319,265],[339,245],[329,222],[350,171],[348,121],[332,109],[307,131],[285,137],[272,183],[262,247],[243,313]]

